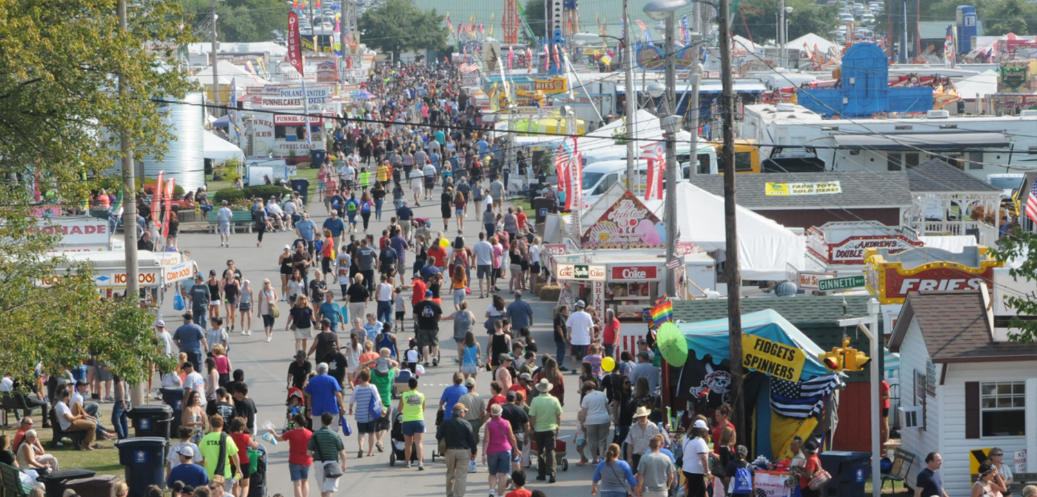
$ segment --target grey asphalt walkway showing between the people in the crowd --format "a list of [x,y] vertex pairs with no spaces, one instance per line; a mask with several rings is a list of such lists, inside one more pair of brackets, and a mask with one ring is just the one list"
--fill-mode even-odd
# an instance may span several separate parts
[[[439,199],[439,187],[437,187],[437,193],[433,198]],[[410,195],[410,192],[408,192]],[[387,199],[389,200],[389,199]],[[416,217],[428,217],[432,221],[432,233],[442,228],[443,218],[440,214],[439,202],[433,200],[431,202],[422,202],[421,207],[414,208]],[[383,212],[383,221],[374,221],[374,216],[371,216],[370,232],[375,235],[375,239],[381,237],[382,230],[389,226],[389,218],[391,217],[390,209],[392,208],[391,202],[386,202],[387,209]],[[323,203],[317,203],[316,201],[311,202],[309,212],[313,217],[313,221],[320,226],[324,222],[325,207]],[[469,213],[466,220],[466,232],[465,232],[465,243],[468,246],[472,246],[478,241],[478,231],[477,227],[480,227],[472,213]],[[445,235],[449,239],[453,239],[456,233],[456,227],[454,220],[450,223],[451,230],[445,232]],[[237,268],[242,270],[244,277],[249,280],[252,284],[252,288],[255,292],[262,286],[262,280],[264,277],[270,279],[274,284],[275,288],[278,289],[280,293],[280,275],[278,273],[277,259],[281,253],[282,247],[291,243],[296,239],[295,232],[274,232],[267,233],[263,239],[263,246],[256,247],[256,235],[248,233],[239,233],[231,237],[230,247],[220,247],[220,239],[218,235],[215,234],[183,234],[179,239],[179,247],[181,251],[189,251],[191,257],[198,262],[198,267],[202,271],[202,274],[207,274],[209,269],[221,270],[226,267],[227,259],[233,259]],[[408,262],[413,261],[414,254],[408,254]],[[410,265],[410,264],[409,264]],[[474,271],[473,271],[474,275]],[[499,284],[502,288],[506,289],[507,282],[502,281]],[[338,295],[339,289],[338,285],[333,281],[330,281],[329,288],[333,289],[336,293],[338,299],[341,295]],[[476,315],[478,325],[476,326],[476,339],[485,347],[485,334],[482,332],[481,323],[483,321],[483,316],[486,311],[486,306],[489,304],[488,298],[479,299],[478,297],[478,286],[475,286],[475,295],[471,295],[469,302],[469,309],[473,311]],[[407,329],[411,330],[411,305],[410,305],[410,291],[404,292],[404,296],[408,297],[408,320]],[[513,300],[513,296],[508,293],[502,293],[505,297],[505,301],[510,303]],[[533,339],[537,342],[539,346],[540,354],[549,352],[554,354],[555,344],[552,339],[551,333],[551,310],[553,302],[543,302],[539,298],[532,295],[524,295],[526,299],[533,308],[535,314],[535,325],[532,327]],[[179,314],[172,309],[172,298],[166,299],[166,305],[163,308],[163,315],[165,316],[166,322],[168,324],[168,329],[173,331],[176,326],[181,322],[179,319]],[[444,312],[449,314],[451,311],[446,309],[450,306],[450,297],[448,293],[444,294]],[[280,428],[283,426],[284,421],[284,401],[287,396],[287,390],[285,389],[285,379],[287,377],[288,363],[295,353],[292,347],[295,345],[293,338],[290,331],[284,330],[284,323],[287,319],[287,308],[285,302],[281,302],[281,318],[277,320],[274,326],[274,341],[272,343],[265,342],[265,337],[262,332],[262,318],[258,316],[253,316],[252,325],[252,335],[243,337],[240,330],[235,333],[231,333],[230,337],[230,359],[233,362],[235,369],[242,369],[245,371],[246,383],[249,385],[249,396],[256,403],[259,413],[256,416],[256,425],[261,425],[265,420],[272,421],[276,427]],[[368,308],[373,311],[373,303]],[[223,314],[221,314],[223,316]],[[224,316],[225,317],[225,316]],[[418,472],[417,468],[407,469],[405,466],[401,466],[397,463],[395,467],[389,467],[389,447],[388,443],[386,452],[375,452],[373,458],[363,458],[356,459],[357,455],[357,435],[354,434],[351,437],[344,437],[346,455],[348,457],[348,467],[339,485],[338,495],[349,496],[349,495],[364,495],[364,496],[375,496],[375,495],[394,495],[394,496],[442,496],[445,494],[445,464],[443,459],[437,458],[435,463],[429,462],[429,455],[432,448],[436,446],[435,440],[435,420],[436,420],[436,410],[439,406],[440,394],[443,392],[443,388],[450,383],[451,375],[457,371],[457,367],[453,362],[453,358],[456,357],[456,351],[454,348],[453,341],[451,340],[452,325],[449,321],[444,322],[441,325],[440,338],[444,346],[444,350],[441,355],[444,359],[443,364],[438,368],[428,368],[426,374],[421,377],[421,385],[419,389],[425,393],[426,410],[425,410],[425,423],[427,427],[427,433],[425,436],[425,471]],[[408,339],[413,337],[412,331],[400,333],[397,338],[397,342],[405,348]],[[341,338],[343,343],[348,342],[348,335]],[[568,362],[568,358],[566,358]],[[314,363],[314,369],[316,364]],[[479,375],[478,378],[478,391],[485,399],[489,398],[489,381],[491,376],[488,374]],[[580,460],[579,455],[576,452],[576,444],[572,442],[572,433],[576,430],[577,425],[577,413],[579,410],[579,392],[577,387],[577,377],[576,375],[565,374],[566,381],[566,403],[565,413],[563,414],[563,425],[561,429],[561,436],[568,435],[569,438],[569,470],[558,471],[558,483],[554,485],[546,484],[544,481],[536,481],[534,476],[536,475],[536,463],[534,457],[534,463],[531,468],[527,470],[527,475],[529,479],[529,489],[540,489],[543,490],[549,496],[561,496],[561,495],[589,495],[590,494],[590,480],[593,475],[593,468],[588,464],[585,467],[576,466],[576,462]],[[157,385],[157,384],[156,384]],[[404,385],[405,386],[405,385]],[[351,390],[352,391],[352,390]],[[348,394],[351,391],[346,391],[346,401],[348,400]],[[156,401],[151,400],[151,403]],[[396,405],[394,401],[393,405]],[[356,430],[356,422],[351,417],[351,423],[353,423],[354,430]],[[386,440],[388,441],[389,435],[386,435]],[[278,446],[273,446],[270,443],[265,443],[268,450],[270,451],[270,466],[269,475],[270,483],[268,486],[268,495],[274,495],[276,493],[281,493],[286,497],[292,495],[291,481],[288,477],[288,446],[287,443],[281,443]],[[481,455],[480,455],[481,456]],[[481,458],[479,458],[478,473],[469,474],[468,480],[468,495],[488,495],[488,486],[486,481],[487,473],[485,467],[481,465]],[[315,484],[313,480],[313,471],[310,470],[310,495],[319,496]]]

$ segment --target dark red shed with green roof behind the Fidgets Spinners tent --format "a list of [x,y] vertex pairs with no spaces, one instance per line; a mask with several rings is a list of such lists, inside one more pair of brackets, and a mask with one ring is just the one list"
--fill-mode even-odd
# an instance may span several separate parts
[[[745,298],[741,300],[741,312],[750,314],[766,309],[773,310],[824,350],[842,346],[843,332],[849,333],[852,347],[858,350],[869,350],[870,343],[864,333],[844,329],[839,326],[838,321],[848,317],[867,316],[868,300],[871,298],[869,295],[847,295],[845,298],[842,296]],[[677,321],[700,322],[725,318],[727,318],[726,299],[673,301],[673,319]],[[832,437],[832,448],[835,450],[871,451],[869,374],[867,371],[846,373],[846,387],[839,396],[837,411],[839,425]],[[891,383],[895,382],[893,379],[888,380]]]

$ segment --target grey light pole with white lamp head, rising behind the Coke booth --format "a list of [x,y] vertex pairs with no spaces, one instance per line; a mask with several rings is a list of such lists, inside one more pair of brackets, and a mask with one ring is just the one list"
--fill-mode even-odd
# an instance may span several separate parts
[[[674,25],[676,24],[676,11],[691,5],[689,0],[652,0],[645,4],[644,12],[655,21],[666,20],[666,113],[669,114],[662,119],[663,128],[666,131],[666,261],[676,259],[677,256],[677,130],[680,129],[680,116],[676,116],[677,97],[677,67],[676,52],[674,50]],[[650,92],[658,91],[655,87]],[[649,93],[650,94],[650,93]],[[657,96],[657,95],[653,95]],[[666,279],[666,294],[670,297],[677,295],[677,271],[671,269]]]

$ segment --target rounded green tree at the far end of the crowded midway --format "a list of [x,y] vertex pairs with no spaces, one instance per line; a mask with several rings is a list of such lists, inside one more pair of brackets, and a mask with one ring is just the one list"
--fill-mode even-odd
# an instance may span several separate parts
[[436,9],[421,10],[408,0],[388,0],[377,8],[368,9],[360,18],[360,40],[382,53],[447,49],[450,31]]

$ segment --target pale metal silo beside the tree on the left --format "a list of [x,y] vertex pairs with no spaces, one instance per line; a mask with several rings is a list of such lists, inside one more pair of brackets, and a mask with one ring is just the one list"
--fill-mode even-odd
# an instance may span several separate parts
[[176,178],[176,184],[185,191],[197,189],[205,184],[202,94],[191,92],[180,101],[184,104],[162,104],[160,108],[163,124],[175,137],[167,142],[162,162],[150,154],[140,160],[144,163],[144,174],[148,179],[155,179],[159,171],[165,171],[166,178]]

